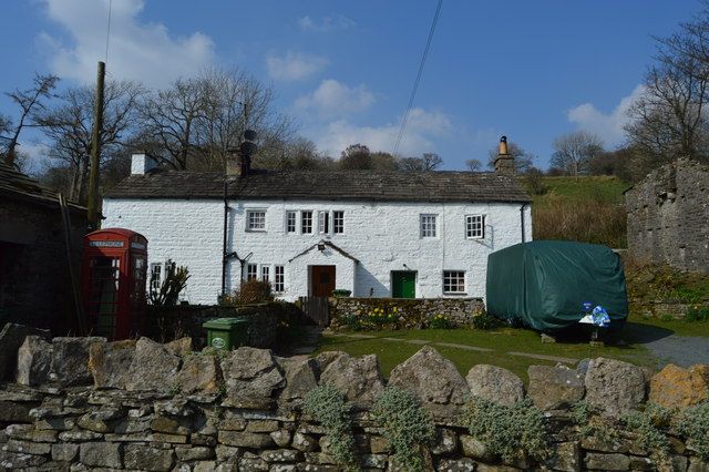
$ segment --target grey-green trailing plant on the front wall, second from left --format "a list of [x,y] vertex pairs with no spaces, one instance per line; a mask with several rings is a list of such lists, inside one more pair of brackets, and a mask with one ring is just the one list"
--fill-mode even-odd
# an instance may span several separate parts
[[423,448],[435,439],[435,427],[415,396],[387,387],[374,399],[372,415],[391,444],[397,463],[408,471],[427,470]]

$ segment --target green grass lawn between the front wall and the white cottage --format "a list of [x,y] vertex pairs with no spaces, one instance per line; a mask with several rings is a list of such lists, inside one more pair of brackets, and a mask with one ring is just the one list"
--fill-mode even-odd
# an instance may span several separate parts
[[[569,340],[543,343],[535,331],[514,328],[497,328],[489,331],[473,329],[424,329],[399,331],[360,331],[353,335],[374,336],[370,339],[356,339],[340,336],[323,336],[316,355],[322,351],[341,350],[352,356],[376,353],[384,377],[391,370],[421,349],[421,345],[405,342],[421,339],[431,343],[441,355],[453,361],[458,370],[465,376],[476,363],[491,363],[515,372],[525,382],[527,368],[534,365],[553,366],[556,361],[514,356],[508,352],[526,352],[565,357],[574,359],[608,357],[626,360],[636,365],[655,363],[653,356],[639,345],[592,347],[588,342]],[[387,340],[382,338],[397,338]],[[473,346],[492,349],[489,352],[441,346],[439,342]]]

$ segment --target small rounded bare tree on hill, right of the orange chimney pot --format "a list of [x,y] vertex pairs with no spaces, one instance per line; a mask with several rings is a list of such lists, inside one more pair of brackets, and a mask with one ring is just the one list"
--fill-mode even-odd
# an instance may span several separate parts
[[586,131],[566,133],[554,140],[551,164],[568,175],[588,172],[588,164],[603,152],[603,142]]

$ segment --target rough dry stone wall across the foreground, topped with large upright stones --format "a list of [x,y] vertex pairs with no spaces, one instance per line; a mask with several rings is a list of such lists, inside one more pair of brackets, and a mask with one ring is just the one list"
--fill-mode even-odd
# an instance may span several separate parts
[[[370,413],[387,384],[410,389],[433,415],[436,440],[428,451],[436,470],[709,470],[679,434],[672,437],[669,465],[661,465],[638,445],[636,432],[588,435],[571,413],[585,399],[600,421],[612,423],[641,408],[648,390],[667,407],[698,404],[707,401],[707,366],[668,368],[648,381],[644,369],[598,358],[577,369],[533,367],[525,388],[514,373],[493,366],[475,366],[464,378],[425,346],[387,382],[372,355],[279,358],[248,347],[209,355],[192,352],[189,343],[27,337],[17,365],[24,384],[0,388],[0,470],[343,470],[330,454],[332,439],[302,412],[307,393],[326,382],[354,404],[361,470],[401,470]],[[544,411],[549,459],[501,461],[461,422],[471,393],[503,404],[531,399]]]

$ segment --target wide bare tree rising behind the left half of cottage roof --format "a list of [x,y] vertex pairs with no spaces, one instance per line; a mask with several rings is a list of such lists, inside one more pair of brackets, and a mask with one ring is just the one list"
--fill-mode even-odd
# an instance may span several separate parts
[[178,79],[153,93],[141,112],[146,141],[163,148],[155,157],[176,170],[224,170],[228,150],[247,129],[259,136],[255,158],[273,162],[295,134],[290,120],[275,110],[273,90],[238,70]]

